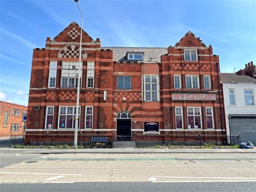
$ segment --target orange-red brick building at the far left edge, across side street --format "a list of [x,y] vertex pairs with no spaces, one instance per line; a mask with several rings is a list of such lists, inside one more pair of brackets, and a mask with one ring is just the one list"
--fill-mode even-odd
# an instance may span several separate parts
[[0,101],[0,137],[9,137],[11,133],[23,134],[22,118],[27,110],[27,106]]

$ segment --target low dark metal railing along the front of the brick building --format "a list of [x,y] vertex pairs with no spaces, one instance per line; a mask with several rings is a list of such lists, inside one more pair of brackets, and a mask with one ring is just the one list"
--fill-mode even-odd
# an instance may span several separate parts
[[[240,135],[218,135],[218,134],[136,134],[133,136],[114,136],[111,134],[85,134],[78,133],[77,145],[82,147],[173,147],[173,146],[204,146],[211,144],[215,146],[225,145],[229,138],[229,144],[240,144]],[[11,135],[11,145],[74,145],[74,133],[26,133],[26,135]]]

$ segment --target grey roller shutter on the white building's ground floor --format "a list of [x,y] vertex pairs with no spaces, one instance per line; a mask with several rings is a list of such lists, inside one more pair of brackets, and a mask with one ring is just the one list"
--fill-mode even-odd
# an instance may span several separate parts
[[256,146],[256,118],[230,118],[231,135],[240,133],[241,142],[250,141]]

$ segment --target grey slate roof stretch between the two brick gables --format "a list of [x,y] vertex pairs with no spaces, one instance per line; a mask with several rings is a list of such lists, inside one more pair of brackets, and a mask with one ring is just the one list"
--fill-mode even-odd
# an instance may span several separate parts
[[[102,47],[102,49],[113,50],[114,61],[143,61],[161,62],[161,55],[167,54],[167,48],[144,48],[144,47]],[[127,53],[144,53],[144,60],[128,60]]]

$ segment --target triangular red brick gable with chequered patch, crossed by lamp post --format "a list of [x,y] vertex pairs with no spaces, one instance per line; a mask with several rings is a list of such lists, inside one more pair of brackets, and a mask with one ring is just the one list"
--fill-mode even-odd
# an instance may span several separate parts
[[[54,37],[52,40],[53,41],[57,41],[58,40],[58,38],[60,37],[60,36],[68,36],[68,32],[70,31],[70,29],[72,29],[72,28],[76,28],[78,31],[78,33],[79,33],[79,36],[80,36],[80,32],[81,32],[81,27],[76,23],[76,22],[72,22],[68,27],[66,27],[64,30],[62,30],[56,37]],[[66,33],[67,32],[67,33]],[[82,35],[82,41],[84,42],[84,41],[88,41],[88,42],[92,42],[92,41],[94,41],[93,40],[93,38],[90,36],[90,35],[88,35],[87,34],[87,32],[85,32],[84,30],[82,30],[82,33],[83,33],[83,35]],[[68,38],[69,39],[69,38]],[[79,38],[77,38],[76,40],[79,40],[80,41],[80,37]]]

